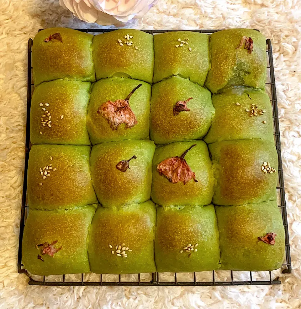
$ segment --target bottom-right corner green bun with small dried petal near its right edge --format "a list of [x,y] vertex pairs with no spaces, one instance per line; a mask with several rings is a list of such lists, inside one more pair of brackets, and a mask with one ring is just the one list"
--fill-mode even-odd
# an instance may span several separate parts
[[216,206],[215,211],[221,269],[266,271],[281,266],[285,255],[285,238],[276,201]]

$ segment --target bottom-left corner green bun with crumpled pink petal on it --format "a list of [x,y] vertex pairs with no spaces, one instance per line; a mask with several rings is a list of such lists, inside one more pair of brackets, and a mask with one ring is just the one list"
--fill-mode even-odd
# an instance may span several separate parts
[[26,269],[34,275],[90,272],[87,237],[96,207],[30,209],[22,240]]

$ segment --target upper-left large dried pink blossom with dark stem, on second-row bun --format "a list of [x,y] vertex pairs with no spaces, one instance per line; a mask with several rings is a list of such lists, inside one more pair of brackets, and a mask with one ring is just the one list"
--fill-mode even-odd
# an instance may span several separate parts
[[117,130],[122,123],[126,124],[126,128],[132,128],[138,123],[135,113],[129,106],[129,98],[140,86],[142,84],[135,87],[125,100],[116,100],[114,102],[109,100],[98,108],[97,113],[108,120],[112,130]]

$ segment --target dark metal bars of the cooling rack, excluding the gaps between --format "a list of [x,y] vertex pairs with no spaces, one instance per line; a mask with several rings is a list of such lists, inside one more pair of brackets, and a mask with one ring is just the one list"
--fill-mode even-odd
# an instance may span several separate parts
[[[110,32],[115,29],[75,29],[86,33],[104,33]],[[40,30],[39,30],[40,31]],[[178,30],[142,30],[144,32],[150,33],[152,35],[157,33],[164,33],[170,31],[178,31]],[[219,30],[191,30],[200,33],[213,33]],[[227,285],[269,285],[269,284],[281,284],[280,280],[272,279],[272,273],[269,271],[269,279],[268,280],[254,280],[254,274],[252,278],[252,272],[243,272],[249,273],[249,280],[236,280],[234,279],[233,271],[229,271],[229,280],[219,281],[216,279],[216,271],[211,272],[211,279],[202,279],[199,280],[198,273],[193,273],[193,277],[191,281],[178,281],[177,273],[172,274],[172,280],[167,281],[165,279],[160,280],[160,278],[164,277],[163,273],[152,273],[150,280],[140,280],[140,274],[138,274],[138,280],[134,281],[123,281],[122,275],[117,275],[118,280],[114,282],[103,281],[103,274],[98,275],[98,280],[87,281],[85,280],[86,274],[81,274],[81,279],[78,281],[65,281],[65,275],[61,275],[61,280],[58,281],[48,281],[47,276],[39,276],[43,279],[37,280],[34,279],[24,268],[22,264],[22,238],[24,233],[25,226],[25,218],[26,218],[26,208],[27,208],[27,200],[26,200],[26,191],[27,191],[27,168],[28,168],[28,158],[29,158],[29,150],[30,150],[30,134],[29,134],[29,115],[30,115],[30,104],[31,104],[31,95],[33,90],[32,83],[32,67],[31,67],[31,47],[32,40],[28,41],[28,78],[27,78],[27,118],[26,118],[26,141],[25,141],[25,166],[24,166],[24,184],[23,184],[23,196],[22,196],[22,207],[21,207],[21,220],[20,220],[20,235],[19,235],[19,251],[18,251],[18,273],[25,273],[29,277],[29,285],[51,285],[51,286],[160,286],[160,285],[179,285],[179,286],[227,286]],[[289,249],[289,238],[288,238],[288,221],[287,221],[287,212],[286,212],[286,203],[285,203],[285,193],[284,193],[284,181],[283,181],[283,170],[282,170],[282,159],[281,159],[281,149],[280,149],[280,131],[279,131],[279,120],[278,120],[278,109],[277,109],[277,97],[276,97],[276,84],[275,84],[275,75],[274,75],[274,65],[273,65],[273,56],[272,56],[272,44],[270,39],[267,39],[267,53],[269,64],[267,68],[270,71],[270,82],[266,83],[271,87],[271,102],[273,109],[273,120],[274,120],[274,136],[275,136],[275,144],[278,154],[278,175],[279,181],[277,186],[278,195],[280,197],[280,205],[278,207],[281,208],[283,226],[285,229],[285,253],[286,260],[282,264],[283,273],[291,273],[291,256]],[[254,272],[253,272],[254,273]],[[178,273],[178,278],[179,278]],[[182,276],[181,276],[182,277]],[[264,277],[263,277],[264,278]],[[258,279],[258,278],[257,278]],[[207,280],[207,281],[206,281]]]

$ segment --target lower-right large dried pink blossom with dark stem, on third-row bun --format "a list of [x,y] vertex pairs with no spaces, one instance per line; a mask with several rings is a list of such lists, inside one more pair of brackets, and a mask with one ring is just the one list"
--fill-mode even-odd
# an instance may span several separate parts
[[168,158],[159,163],[157,165],[157,171],[159,174],[164,175],[173,184],[182,181],[184,185],[186,185],[191,179],[198,182],[198,180],[195,179],[195,173],[191,170],[184,159],[187,152],[194,146],[196,146],[196,144],[189,147],[181,157],[176,156]]

